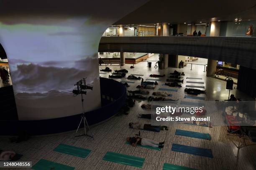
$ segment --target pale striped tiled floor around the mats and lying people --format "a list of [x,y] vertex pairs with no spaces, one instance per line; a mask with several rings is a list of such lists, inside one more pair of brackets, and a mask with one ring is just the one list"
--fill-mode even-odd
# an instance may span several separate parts
[[[151,60],[151,58],[148,60]],[[131,65],[125,65],[122,68],[129,70],[127,75],[142,74],[144,80],[146,80],[150,74],[169,75],[169,72],[173,72],[175,70],[174,68],[168,68],[165,70],[158,70],[154,67],[148,68],[146,67],[146,63],[147,62],[140,62],[135,65],[134,69],[130,69]],[[105,66],[100,66],[100,68],[104,67]],[[120,66],[109,67],[112,70],[120,69]],[[184,78],[202,77],[202,80],[200,81],[205,82],[204,86],[205,89],[207,89],[207,94],[199,95],[200,97],[205,97],[206,100],[228,99],[228,90],[225,90],[225,81],[218,80],[213,77],[206,77],[206,73],[203,72],[203,69],[203,66],[202,68],[195,66],[193,67],[192,71],[190,70],[190,67],[176,70],[183,71],[185,73],[185,76],[183,76]],[[108,77],[108,75],[110,75],[110,73],[100,74],[102,77]],[[160,79],[162,81],[158,81],[159,85],[157,85],[157,88],[155,90],[149,90],[150,94],[151,92],[156,91],[161,86],[161,84],[165,82],[164,80],[166,77]],[[120,81],[120,79],[115,80]],[[187,80],[188,79],[184,79],[184,84],[182,84],[182,87],[174,87],[178,89],[178,92],[171,92],[173,94],[171,97],[172,99],[192,102],[196,101],[195,99],[184,99],[185,85],[199,85],[187,83]],[[131,87],[128,87],[128,90],[136,90],[136,85],[140,84],[139,80],[134,81],[135,83],[130,84]],[[251,97],[243,94],[242,92],[239,92],[236,89],[232,90],[231,93],[238,98],[252,100]],[[19,144],[9,143],[8,138],[0,138],[0,149],[14,150],[17,153],[23,154],[24,156],[22,160],[33,161],[33,164],[35,164],[40,159],[46,159],[56,163],[75,167],[77,170],[162,170],[164,163],[182,165],[200,170],[254,170],[256,168],[256,145],[250,142],[250,140],[246,139],[248,146],[238,150],[234,143],[236,145],[241,145],[242,139],[240,139],[238,136],[227,136],[227,127],[225,126],[214,126],[212,128],[208,128],[195,125],[179,124],[177,122],[171,124],[168,122],[166,123],[166,125],[169,126],[168,131],[161,131],[160,133],[143,130],[141,131],[143,138],[149,138],[158,141],[165,140],[166,144],[164,149],[161,151],[141,147],[134,148],[130,145],[126,145],[125,138],[127,136],[132,136],[138,133],[138,130],[132,130],[128,128],[129,122],[150,122],[150,120],[144,120],[137,117],[138,113],[145,113],[145,111],[143,111],[140,107],[143,103],[148,102],[136,101],[136,105],[131,108],[128,115],[115,116],[107,122],[92,127],[90,133],[94,135],[94,140],[85,137],[74,138],[76,135],[74,132],[69,132],[62,135],[51,135],[47,137],[32,137],[27,142]],[[212,140],[178,136],[174,134],[176,129],[209,133]],[[82,132],[82,130],[79,131],[79,133]],[[85,159],[54,152],[53,149],[60,143],[87,148],[92,150],[92,152]],[[213,158],[174,152],[171,150],[172,143],[211,149]],[[107,151],[143,157],[145,158],[143,168],[134,168],[133,166],[102,160]]]

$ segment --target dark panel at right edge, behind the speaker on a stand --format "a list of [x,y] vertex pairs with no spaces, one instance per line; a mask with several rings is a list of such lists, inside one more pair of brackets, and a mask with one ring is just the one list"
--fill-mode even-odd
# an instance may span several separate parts
[[240,66],[237,89],[251,97],[256,97],[256,70]]

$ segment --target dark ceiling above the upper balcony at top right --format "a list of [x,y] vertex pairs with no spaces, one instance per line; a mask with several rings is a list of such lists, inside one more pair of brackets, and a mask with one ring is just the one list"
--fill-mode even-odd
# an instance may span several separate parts
[[[192,3],[193,2],[193,3]],[[256,20],[256,0],[150,0],[114,25]]]

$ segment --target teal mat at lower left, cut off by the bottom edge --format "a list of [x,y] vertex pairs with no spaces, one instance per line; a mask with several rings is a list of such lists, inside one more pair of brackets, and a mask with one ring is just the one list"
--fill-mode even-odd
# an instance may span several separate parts
[[41,159],[34,166],[32,166],[31,169],[33,170],[74,170],[74,167]]

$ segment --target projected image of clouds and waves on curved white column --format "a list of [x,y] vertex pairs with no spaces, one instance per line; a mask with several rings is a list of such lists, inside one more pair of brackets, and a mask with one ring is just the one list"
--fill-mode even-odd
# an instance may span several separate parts
[[[85,111],[101,106],[98,44],[106,23],[90,18],[27,23],[0,22],[0,42],[9,60],[19,120],[41,120],[82,113],[74,84],[86,77]],[[10,46],[11,45],[11,46]],[[93,98],[93,100],[92,100]]]

